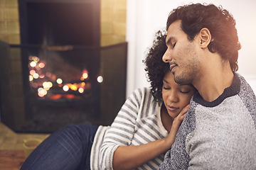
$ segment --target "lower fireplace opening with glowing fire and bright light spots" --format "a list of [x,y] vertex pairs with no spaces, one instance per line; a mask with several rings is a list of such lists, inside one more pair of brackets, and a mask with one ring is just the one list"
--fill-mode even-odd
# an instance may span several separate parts
[[28,45],[21,51],[26,59],[22,64],[27,79],[27,121],[23,129],[100,123],[100,89],[104,84],[98,81],[104,74],[100,69],[100,48],[73,46],[59,51]]

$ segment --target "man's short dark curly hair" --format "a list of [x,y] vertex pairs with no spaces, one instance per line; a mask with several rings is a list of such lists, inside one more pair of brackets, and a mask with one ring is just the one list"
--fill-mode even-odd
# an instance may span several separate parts
[[238,71],[238,32],[235,19],[222,6],[213,4],[189,4],[171,11],[166,23],[168,30],[171,23],[181,20],[181,29],[193,40],[202,28],[208,28],[212,41],[208,45],[210,52],[218,52],[224,60],[229,60],[233,72]]

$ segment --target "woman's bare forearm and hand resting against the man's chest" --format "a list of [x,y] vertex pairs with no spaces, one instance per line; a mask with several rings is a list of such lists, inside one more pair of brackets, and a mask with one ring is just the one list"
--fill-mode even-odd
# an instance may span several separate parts
[[117,147],[113,158],[114,170],[137,168],[166,152],[167,149],[170,149],[174,143],[178,127],[181,125],[181,121],[185,117],[188,108],[189,106],[183,108],[181,113],[174,119],[171,131],[167,137],[149,142],[145,145]]

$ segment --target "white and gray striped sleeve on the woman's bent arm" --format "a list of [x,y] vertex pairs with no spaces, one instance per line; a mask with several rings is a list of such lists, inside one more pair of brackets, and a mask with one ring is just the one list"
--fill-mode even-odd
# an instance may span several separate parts
[[100,149],[101,169],[113,169],[112,159],[114,151],[119,146],[130,145],[144,95],[144,89],[135,90],[125,101],[111,128],[107,130]]

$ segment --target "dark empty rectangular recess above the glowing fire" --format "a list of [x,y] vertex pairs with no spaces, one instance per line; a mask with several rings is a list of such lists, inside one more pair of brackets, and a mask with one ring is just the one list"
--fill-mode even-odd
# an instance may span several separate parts
[[28,44],[93,45],[92,3],[27,3]]

